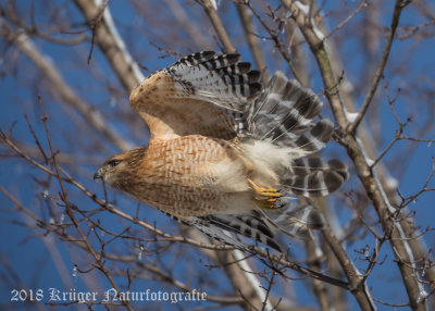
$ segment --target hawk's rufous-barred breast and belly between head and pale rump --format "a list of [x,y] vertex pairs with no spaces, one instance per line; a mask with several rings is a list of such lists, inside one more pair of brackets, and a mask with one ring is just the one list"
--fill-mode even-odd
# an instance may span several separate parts
[[223,213],[250,192],[237,145],[200,135],[151,139],[138,175],[134,195],[178,216]]

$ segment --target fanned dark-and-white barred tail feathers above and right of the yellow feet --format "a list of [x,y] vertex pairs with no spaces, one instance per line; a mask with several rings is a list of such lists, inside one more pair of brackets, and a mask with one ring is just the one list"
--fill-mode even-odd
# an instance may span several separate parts
[[323,161],[318,152],[333,134],[333,123],[314,123],[322,102],[296,80],[276,72],[258,100],[245,113],[245,139],[266,140],[288,148],[290,165],[279,172],[282,189],[307,198],[327,196],[348,178],[348,169],[339,160]]

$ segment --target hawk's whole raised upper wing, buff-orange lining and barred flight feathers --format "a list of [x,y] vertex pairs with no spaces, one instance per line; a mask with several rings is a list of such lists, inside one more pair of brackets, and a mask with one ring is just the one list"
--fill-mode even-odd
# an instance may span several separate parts
[[260,73],[239,54],[203,51],[185,57],[135,87],[129,101],[151,137],[204,135],[231,139],[243,112],[262,90]]

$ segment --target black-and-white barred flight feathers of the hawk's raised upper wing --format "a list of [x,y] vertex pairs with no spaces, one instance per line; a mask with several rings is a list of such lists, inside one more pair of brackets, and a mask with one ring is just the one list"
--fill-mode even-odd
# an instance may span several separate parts
[[244,132],[244,116],[263,87],[260,72],[251,63],[240,62],[240,54],[213,51],[194,53],[164,71],[178,82],[178,92],[213,103],[231,116],[228,130],[234,136]]

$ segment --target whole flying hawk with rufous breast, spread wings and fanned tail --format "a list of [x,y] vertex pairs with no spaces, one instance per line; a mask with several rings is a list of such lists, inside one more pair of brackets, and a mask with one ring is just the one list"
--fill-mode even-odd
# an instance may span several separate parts
[[281,250],[272,227],[297,237],[325,225],[299,197],[327,196],[348,177],[318,152],[333,133],[314,122],[322,102],[237,53],[187,55],[137,85],[132,108],[150,128],[148,147],[111,157],[95,174],[211,237],[245,249],[228,232]]

